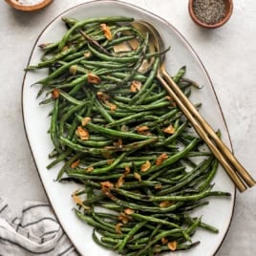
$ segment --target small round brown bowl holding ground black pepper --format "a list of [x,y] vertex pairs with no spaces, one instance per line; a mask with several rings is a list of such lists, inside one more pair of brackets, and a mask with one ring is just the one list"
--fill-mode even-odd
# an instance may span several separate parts
[[224,0],[224,4],[225,4],[225,14],[224,14],[224,18],[215,23],[215,24],[207,24],[207,23],[203,23],[195,14],[194,9],[193,9],[193,3],[195,2],[195,0],[189,0],[188,2],[188,11],[189,14],[192,18],[192,20],[199,26],[206,28],[206,29],[216,29],[219,28],[221,26],[223,26],[228,19],[230,18],[230,16],[232,15],[233,12],[233,1],[232,0]]

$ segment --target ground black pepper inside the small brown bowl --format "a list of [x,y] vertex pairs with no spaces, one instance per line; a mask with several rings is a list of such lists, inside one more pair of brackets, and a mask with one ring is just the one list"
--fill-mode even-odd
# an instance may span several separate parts
[[224,0],[195,0],[193,10],[198,19],[205,24],[215,24],[224,18]]

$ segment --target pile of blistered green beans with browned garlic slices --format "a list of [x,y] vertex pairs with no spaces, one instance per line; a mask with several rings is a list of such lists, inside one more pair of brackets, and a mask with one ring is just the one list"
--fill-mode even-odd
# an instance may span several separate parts
[[[63,21],[67,32],[40,45],[41,61],[28,70],[49,71],[35,83],[40,104],[53,106],[47,167],[63,162],[56,180],[77,183],[75,214],[94,226],[96,244],[159,255],[198,245],[198,228],[217,233],[190,213],[230,194],[212,190],[218,161],[156,78],[163,53],[149,52],[130,17]],[[184,74],[173,79],[190,96],[196,83]]]

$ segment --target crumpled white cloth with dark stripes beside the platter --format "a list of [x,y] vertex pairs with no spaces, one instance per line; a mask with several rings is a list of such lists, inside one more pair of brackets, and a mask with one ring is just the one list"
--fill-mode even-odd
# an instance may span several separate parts
[[27,202],[22,216],[0,198],[0,256],[77,256],[47,203]]

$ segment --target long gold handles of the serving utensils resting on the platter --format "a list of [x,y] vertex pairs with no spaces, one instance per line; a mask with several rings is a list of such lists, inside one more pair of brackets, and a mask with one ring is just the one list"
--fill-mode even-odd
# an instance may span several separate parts
[[254,179],[245,170],[242,164],[234,157],[232,152],[227,148],[224,142],[217,136],[211,126],[199,114],[195,106],[181,92],[179,86],[175,83],[170,75],[167,74],[164,64],[161,65],[158,73],[158,79],[165,88],[167,93],[175,100],[182,113],[191,122],[199,136],[207,144],[213,155],[223,165],[224,170],[235,183],[240,192],[255,184]]

